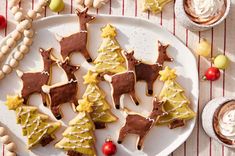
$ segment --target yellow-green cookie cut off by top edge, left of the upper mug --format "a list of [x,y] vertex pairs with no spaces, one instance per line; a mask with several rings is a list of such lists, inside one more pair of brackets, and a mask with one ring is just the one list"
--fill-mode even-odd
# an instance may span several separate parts
[[143,10],[159,13],[163,7],[172,0],[143,0]]

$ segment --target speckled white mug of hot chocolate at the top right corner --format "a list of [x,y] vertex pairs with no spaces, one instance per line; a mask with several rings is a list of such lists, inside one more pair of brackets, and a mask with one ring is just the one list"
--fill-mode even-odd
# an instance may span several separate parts
[[219,25],[230,11],[231,0],[176,0],[175,15],[187,29],[204,31]]

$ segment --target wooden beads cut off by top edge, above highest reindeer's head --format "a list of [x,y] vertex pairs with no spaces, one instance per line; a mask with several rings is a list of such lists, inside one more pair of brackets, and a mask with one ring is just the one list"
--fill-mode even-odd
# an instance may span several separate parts
[[83,5],[85,7],[93,7],[93,8],[100,8],[106,3],[109,2],[109,0],[76,0],[78,4]]

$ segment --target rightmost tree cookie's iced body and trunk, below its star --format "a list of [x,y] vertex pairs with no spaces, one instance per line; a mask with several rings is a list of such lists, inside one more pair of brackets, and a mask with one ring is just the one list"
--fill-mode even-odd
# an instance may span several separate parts
[[183,88],[174,80],[165,81],[159,98],[165,101],[167,114],[159,118],[158,124],[169,124],[174,119],[189,120],[196,115],[188,106],[190,101],[184,95]]

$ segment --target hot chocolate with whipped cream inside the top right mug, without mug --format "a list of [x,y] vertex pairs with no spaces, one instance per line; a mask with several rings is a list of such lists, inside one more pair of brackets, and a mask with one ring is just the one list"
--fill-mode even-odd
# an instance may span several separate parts
[[184,8],[192,21],[210,25],[224,15],[226,0],[185,0]]

